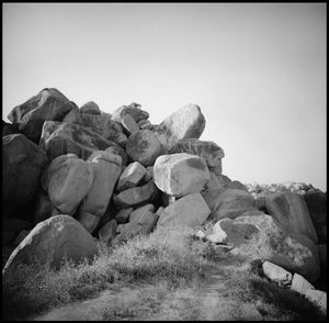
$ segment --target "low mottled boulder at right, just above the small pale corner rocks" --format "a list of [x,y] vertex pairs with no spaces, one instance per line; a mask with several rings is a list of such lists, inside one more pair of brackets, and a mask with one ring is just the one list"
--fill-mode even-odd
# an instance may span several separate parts
[[319,255],[311,240],[303,234],[287,233],[271,215],[260,211],[249,214],[219,220],[217,223],[226,236],[217,243],[231,243],[232,255],[268,260],[310,282],[318,279]]

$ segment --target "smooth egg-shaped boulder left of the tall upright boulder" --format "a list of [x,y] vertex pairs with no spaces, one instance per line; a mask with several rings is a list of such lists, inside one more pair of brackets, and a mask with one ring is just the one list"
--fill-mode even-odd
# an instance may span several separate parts
[[72,215],[89,192],[93,179],[91,163],[61,155],[49,164],[42,183],[54,207],[63,214]]

